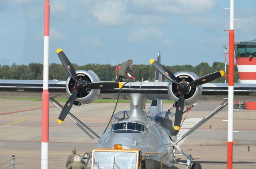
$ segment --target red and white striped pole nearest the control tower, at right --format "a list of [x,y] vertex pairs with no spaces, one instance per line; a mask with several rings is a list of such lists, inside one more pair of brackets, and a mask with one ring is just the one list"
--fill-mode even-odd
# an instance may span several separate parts
[[228,59],[228,159],[227,168],[233,166],[233,107],[234,107],[234,0],[230,0],[230,30]]

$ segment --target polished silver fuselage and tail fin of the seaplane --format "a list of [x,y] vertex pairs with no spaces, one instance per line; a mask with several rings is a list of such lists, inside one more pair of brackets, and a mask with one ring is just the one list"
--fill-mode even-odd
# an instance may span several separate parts
[[[160,52],[158,62],[161,63]],[[155,82],[162,82],[162,76],[156,70]],[[163,128],[156,122],[153,115],[169,115],[171,112],[162,112],[162,100],[152,100],[148,112],[145,111],[147,96],[141,93],[129,93],[130,111],[120,111],[111,120],[111,127],[99,139],[97,148],[113,147],[114,144],[121,144],[123,148],[141,149],[142,154],[146,152],[162,153],[162,163],[167,166],[174,165],[173,149],[170,147],[175,142],[176,136],[170,131],[174,130],[172,121],[169,121],[170,128]],[[161,113],[159,113],[161,112]],[[151,114],[151,115],[150,115]],[[174,115],[174,114],[173,114]],[[156,159],[156,154],[149,154],[147,159]]]

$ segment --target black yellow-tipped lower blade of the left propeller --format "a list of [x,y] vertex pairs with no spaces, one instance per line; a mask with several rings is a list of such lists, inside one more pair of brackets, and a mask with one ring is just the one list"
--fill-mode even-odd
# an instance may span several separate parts
[[77,90],[74,93],[72,93],[72,95],[70,95],[68,101],[64,105],[62,111],[60,112],[60,116],[58,117],[58,120],[57,120],[59,124],[61,124],[66,118],[66,116],[68,115],[68,112],[70,111],[72,105],[74,104],[76,95],[77,95]]

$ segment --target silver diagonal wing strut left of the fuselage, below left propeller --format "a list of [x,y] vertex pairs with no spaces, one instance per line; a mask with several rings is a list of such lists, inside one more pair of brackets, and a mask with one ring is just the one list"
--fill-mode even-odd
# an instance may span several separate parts
[[[63,106],[60,105],[60,103],[58,103],[54,98],[50,98],[50,101],[52,102],[52,104],[54,104],[58,109],[60,109],[60,111],[62,111]],[[82,131],[84,131],[84,133],[86,133],[93,141],[95,141],[96,143],[98,142],[88,131],[90,131],[95,137],[97,137],[98,139],[100,139],[100,136],[98,136],[94,131],[92,131],[92,129],[90,129],[87,125],[85,125],[82,121],[80,121],[76,116],[74,116],[72,113],[68,112],[67,117],[73,121],[73,123],[75,123],[80,129],[82,129]],[[88,129],[88,131],[86,131],[82,126],[84,126],[86,129]]]

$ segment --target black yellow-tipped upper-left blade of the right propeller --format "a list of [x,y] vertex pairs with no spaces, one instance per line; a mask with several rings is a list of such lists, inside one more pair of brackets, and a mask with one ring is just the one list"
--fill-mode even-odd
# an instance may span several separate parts
[[154,59],[151,59],[149,62],[164,77],[166,77],[167,79],[169,79],[173,83],[179,84],[178,79],[168,69],[164,68],[164,66],[162,66],[161,64],[156,62]]

